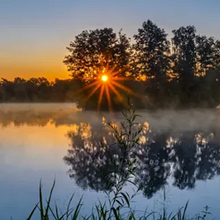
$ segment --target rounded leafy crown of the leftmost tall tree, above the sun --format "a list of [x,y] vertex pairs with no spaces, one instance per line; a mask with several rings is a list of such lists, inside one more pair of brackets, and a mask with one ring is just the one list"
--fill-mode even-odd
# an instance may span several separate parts
[[129,40],[121,31],[118,34],[112,28],[83,31],[67,47],[70,54],[64,64],[74,79],[90,83],[106,67],[115,71],[127,67],[129,48]]

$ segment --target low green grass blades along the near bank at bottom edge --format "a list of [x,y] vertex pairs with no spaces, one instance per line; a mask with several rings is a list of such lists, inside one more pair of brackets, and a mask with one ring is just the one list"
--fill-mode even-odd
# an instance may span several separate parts
[[[187,214],[187,208],[189,202],[184,207],[180,208],[176,213],[167,213],[166,209],[163,209],[162,213],[151,212],[144,213],[142,216],[136,213],[130,206],[130,197],[126,194],[119,197],[121,200],[113,202],[114,198],[110,201],[112,206],[101,202],[94,205],[91,214],[89,216],[83,216],[81,208],[83,206],[83,199],[81,198],[74,205],[74,195],[71,196],[67,204],[66,210],[61,212],[59,207],[55,204],[51,204],[52,194],[55,187],[55,181],[49,192],[47,199],[43,199],[42,185],[39,187],[39,202],[30,212],[27,220],[31,220],[33,214],[38,212],[39,220],[205,220],[209,217],[210,213],[208,207],[195,217],[189,217]],[[114,203],[114,204],[113,204]],[[125,211],[126,209],[126,211]]]

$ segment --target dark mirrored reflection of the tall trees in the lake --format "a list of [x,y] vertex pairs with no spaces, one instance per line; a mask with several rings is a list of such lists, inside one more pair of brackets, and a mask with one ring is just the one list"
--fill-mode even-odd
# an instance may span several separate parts
[[[195,187],[197,180],[220,174],[220,140],[216,132],[154,132],[144,124],[139,144],[124,154],[112,130],[80,123],[69,132],[71,149],[64,161],[68,174],[83,189],[110,190],[116,175],[124,175],[120,158],[136,158],[134,182],[144,196],[151,198],[172,177],[179,189]],[[125,158],[124,158],[125,159]],[[118,169],[123,167],[123,169]],[[111,174],[107,179],[106,174]],[[107,181],[108,180],[108,181]]]

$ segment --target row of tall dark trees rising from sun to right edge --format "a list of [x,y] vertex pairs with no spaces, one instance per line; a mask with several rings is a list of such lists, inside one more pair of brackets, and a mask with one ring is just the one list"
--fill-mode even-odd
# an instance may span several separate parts
[[[194,26],[173,30],[170,39],[150,20],[132,39],[111,28],[83,31],[67,49],[64,63],[83,85],[91,83],[108,66],[119,71],[119,76],[132,78],[123,84],[141,94],[144,107],[219,104],[220,41],[197,34]],[[113,92],[111,95],[116,96]]]

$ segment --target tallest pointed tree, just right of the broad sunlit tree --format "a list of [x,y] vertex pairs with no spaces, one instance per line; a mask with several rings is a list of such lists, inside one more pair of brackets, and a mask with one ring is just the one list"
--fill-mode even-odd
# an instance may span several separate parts
[[138,29],[134,39],[134,73],[147,77],[147,92],[158,99],[164,93],[170,70],[170,43],[167,34],[148,20]]

